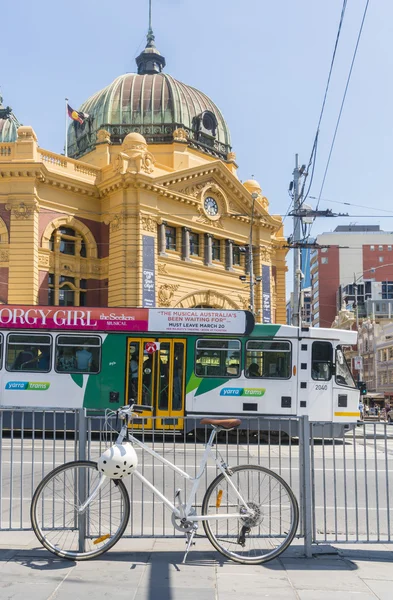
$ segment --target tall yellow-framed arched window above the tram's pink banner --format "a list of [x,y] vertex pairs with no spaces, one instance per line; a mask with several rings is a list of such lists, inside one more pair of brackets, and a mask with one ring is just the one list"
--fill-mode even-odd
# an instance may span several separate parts
[[61,226],[52,232],[49,249],[55,256],[54,272],[48,276],[48,305],[86,306],[87,282],[79,276],[80,259],[86,258],[84,238],[75,229]]

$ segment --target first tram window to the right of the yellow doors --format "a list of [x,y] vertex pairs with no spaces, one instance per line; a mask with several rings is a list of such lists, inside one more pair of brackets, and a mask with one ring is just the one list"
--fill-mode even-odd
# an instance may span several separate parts
[[195,375],[198,377],[239,377],[239,340],[197,340]]

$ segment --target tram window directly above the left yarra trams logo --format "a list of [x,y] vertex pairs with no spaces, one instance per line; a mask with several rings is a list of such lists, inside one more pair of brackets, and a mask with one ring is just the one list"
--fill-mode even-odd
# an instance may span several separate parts
[[10,333],[7,338],[7,371],[48,373],[52,362],[52,337],[39,333]]

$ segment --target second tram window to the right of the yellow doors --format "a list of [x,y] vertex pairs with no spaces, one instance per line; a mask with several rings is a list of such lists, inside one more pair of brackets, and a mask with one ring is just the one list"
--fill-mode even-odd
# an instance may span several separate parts
[[289,379],[292,348],[290,342],[249,340],[246,345],[246,377],[250,379]]

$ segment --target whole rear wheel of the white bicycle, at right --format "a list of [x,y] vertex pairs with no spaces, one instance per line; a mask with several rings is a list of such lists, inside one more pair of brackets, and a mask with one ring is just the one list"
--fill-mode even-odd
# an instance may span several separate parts
[[[227,558],[259,564],[276,558],[290,545],[299,523],[299,508],[289,485],[276,473],[258,465],[233,467],[230,481],[223,474],[208,487],[202,503],[205,533]],[[244,516],[214,519],[215,515]],[[211,517],[209,519],[209,516]]]

